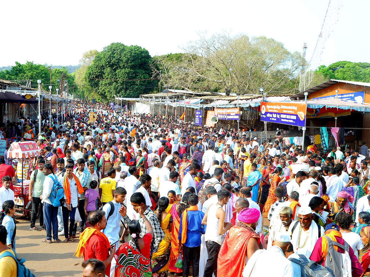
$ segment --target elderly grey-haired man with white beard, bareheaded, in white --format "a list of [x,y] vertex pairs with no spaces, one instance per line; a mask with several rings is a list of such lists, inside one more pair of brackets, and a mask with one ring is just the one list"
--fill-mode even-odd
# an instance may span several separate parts
[[295,220],[292,220],[292,218],[293,210],[289,206],[283,206],[279,210],[279,219],[275,220],[274,223],[269,226],[270,232],[267,249],[272,246],[272,242],[275,240],[277,234],[288,234],[289,226],[295,223]]

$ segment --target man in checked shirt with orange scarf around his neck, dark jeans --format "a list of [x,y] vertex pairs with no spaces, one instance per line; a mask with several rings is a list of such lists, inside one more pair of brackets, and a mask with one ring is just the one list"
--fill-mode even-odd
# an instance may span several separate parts
[[[65,166],[65,175],[63,181],[60,180],[60,183],[63,184],[64,188],[64,205],[62,206],[63,213],[63,225],[64,225],[64,236],[65,240],[63,242],[68,242],[74,238],[72,236],[73,227],[74,227],[74,216],[76,209],[79,205],[80,195],[84,192],[80,180],[73,174],[73,164],[67,164]],[[68,217],[70,218],[70,228],[68,236]]]

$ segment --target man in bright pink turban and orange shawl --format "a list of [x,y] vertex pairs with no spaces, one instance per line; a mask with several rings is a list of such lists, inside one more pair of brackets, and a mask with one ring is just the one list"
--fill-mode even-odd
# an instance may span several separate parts
[[255,231],[259,216],[260,212],[255,208],[244,208],[239,212],[239,221],[230,228],[221,245],[217,277],[242,276],[246,256],[250,259],[253,253],[262,249],[260,237]]

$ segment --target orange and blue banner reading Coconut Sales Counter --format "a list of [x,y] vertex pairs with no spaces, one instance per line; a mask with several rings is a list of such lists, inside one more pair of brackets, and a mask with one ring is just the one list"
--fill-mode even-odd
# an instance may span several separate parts
[[307,105],[304,103],[261,102],[260,108],[262,121],[306,126]]

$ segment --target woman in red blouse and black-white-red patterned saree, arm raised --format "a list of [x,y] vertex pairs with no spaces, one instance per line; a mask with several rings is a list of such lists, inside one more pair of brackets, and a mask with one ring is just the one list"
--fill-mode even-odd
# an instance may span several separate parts
[[[144,210],[138,208],[141,218],[146,219]],[[144,221],[148,232],[140,237],[141,227],[138,220],[131,220],[128,232],[132,239],[122,243],[114,254],[116,262],[115,277],[148,277],[152,276],[150,245],[153,237],[153,228],[149,220]]]

